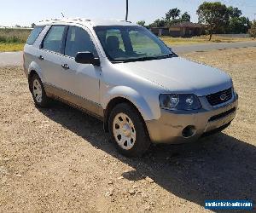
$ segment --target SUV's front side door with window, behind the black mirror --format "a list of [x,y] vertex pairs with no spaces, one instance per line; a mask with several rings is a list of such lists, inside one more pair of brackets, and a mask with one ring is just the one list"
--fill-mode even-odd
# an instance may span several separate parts
[[74,104],[98,114],[100,110],[101,67],[75,62],[78,52],[91,52],[98,57],[89,32],[79,26],[69,26],[62,64],[62,89],[73,95]]

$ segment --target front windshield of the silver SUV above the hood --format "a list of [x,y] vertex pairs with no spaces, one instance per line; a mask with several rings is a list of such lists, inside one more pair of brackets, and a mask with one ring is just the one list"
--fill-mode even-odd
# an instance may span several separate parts
[[96,26],[94,29],[112,62],[156,60],[174,56],[165,43],[142,26]]

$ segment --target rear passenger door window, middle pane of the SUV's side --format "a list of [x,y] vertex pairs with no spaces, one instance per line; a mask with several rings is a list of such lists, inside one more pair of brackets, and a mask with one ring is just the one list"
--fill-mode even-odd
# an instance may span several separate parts
[[61,53],[62,37],[66,26],[51,26],[46,37],[44,37],[43,49]]

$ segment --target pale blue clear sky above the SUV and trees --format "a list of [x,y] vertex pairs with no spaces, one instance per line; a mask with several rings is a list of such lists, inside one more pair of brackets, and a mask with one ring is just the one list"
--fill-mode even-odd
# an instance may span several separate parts
[[[129,20],[146,20],[146,23],[161,18],[168,9],[178,8],[189,12],[192,21],[197,21],[196,9],[205,0],[129,0]],[[243,14],[254,19],[256,0],[220,0],[235,6]],[[211,2],[211,1],[209,1]],[[38,20],[67,17],[90,17],[100,19],[125,19],[125,0],[5,0],[1,3],[0,26],[30,26]]]

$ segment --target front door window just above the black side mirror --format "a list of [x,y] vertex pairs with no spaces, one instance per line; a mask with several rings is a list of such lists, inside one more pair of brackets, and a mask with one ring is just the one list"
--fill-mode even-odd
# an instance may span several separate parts
[[69,26],[65,55],[75,57],[78,52],[90,52],[97,56],[95,45],[88,32],[78,26]]

